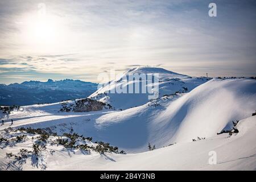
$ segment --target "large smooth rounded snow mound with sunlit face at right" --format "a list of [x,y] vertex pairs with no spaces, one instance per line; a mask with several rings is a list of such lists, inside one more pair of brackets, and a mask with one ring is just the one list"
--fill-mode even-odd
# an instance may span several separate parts
[[232,121],[251,115],[255,108],[255,80],[214,79],[171,103],[156,119],[155,127],[168,136],[176,128],[170,142],[212,137],[229,128]]

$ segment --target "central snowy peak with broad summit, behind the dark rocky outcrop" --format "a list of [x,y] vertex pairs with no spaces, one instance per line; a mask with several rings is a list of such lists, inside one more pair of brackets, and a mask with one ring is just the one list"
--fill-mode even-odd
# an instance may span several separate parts
[[[96,100],[106,102],[112,105],[115,109],[128,109],[130,107],[140,106],[146,104],[150,99],[152,93],[116,93],[113,90],[121,85],[127,86],[127,90],[135,85],[135,83],[141,83],[142,80],[134,80],[125,82],[128,76],[134,75],[153,75],[155,73],[159,74],[159,82],[153,84],[146,84],[147,86],[153,86],[154,93],[157,92],[158,97],[163,97],[168,94],[174,94],[176,92],[189,92],[196,86],[203,84],[210,80],[210,78],[204,77],[189,77],[186,75],[180,75],[179,73],[174,73],[167,71],[163,68],[150,68],[150,67],[139,67],[133,68],[126,71],[116,80],[110,81],[108,84],[102,86],[96,92],[89,96],[89,98],[94,98]],[[125,79],[122,79],[125,78]],[[148,77],[146,78],[149,79]],[[157,86],[159,90],[157,91],[154,87]]]

